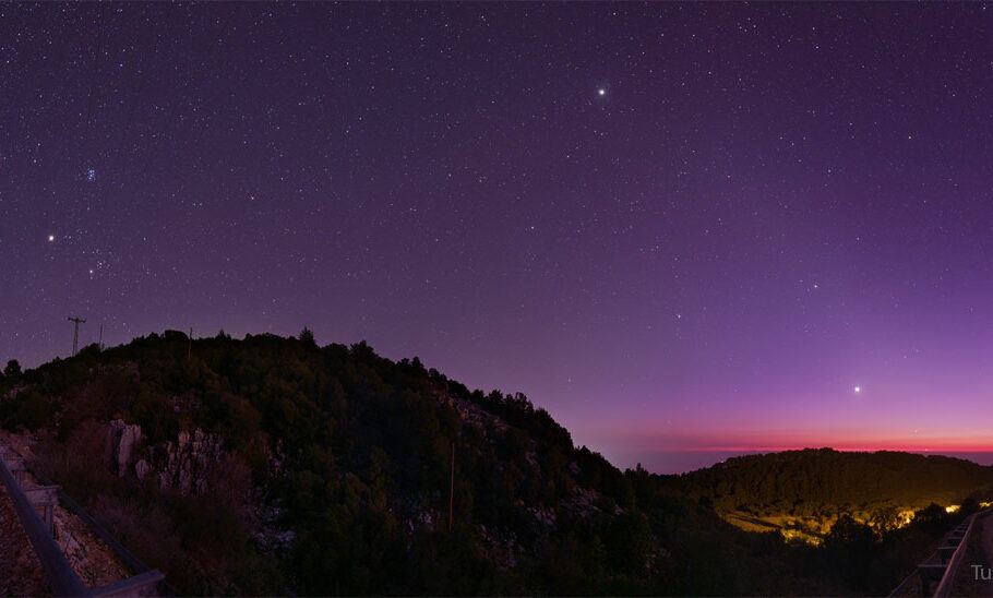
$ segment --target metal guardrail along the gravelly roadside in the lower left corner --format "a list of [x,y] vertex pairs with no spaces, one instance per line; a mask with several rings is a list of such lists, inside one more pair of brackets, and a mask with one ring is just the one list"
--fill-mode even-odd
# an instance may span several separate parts
[[[13,453],[16,456],[8,456],[5,453]],[[14,467],[19,470],[17,477],[14,476],[13,471],[8,466],[8,461],[15,462]],[[22,480],[20,473],[24,469],[29,470],[38,481],[47,483],[47,486],[36,487],[37,490],[23,488],[21,486]],[[159,595],[158,586],[159,584],[165,585],[165,574],[158,570],[148,570],[148,567],[134,558],[134,555],[123,546],[113,540],[93,517],[80,507],[79,504],[69,499],[69,497],[59,490],[57,486],[51,486],[49,480],[45,479],[44,476],[36,473],[27,463],[27,459],[24,459],[23,456],[12,447],[2,444],[0,444],[0,481],[2,481],[3,486],[7,488],[7,493],[14,504],[14,510],[17,513],[17,517],[21,519],[21,525],[27,535],[27,539],[35,549],[38,561],[41,563],[41,567],[45,571],[45,576],[51,584],[57,596],[111,597]],[[33,491],[33,494],[36,495],[35,498],[40,498],[40,500],[32,501],[32,499],[28,498],[28,492],[25,490]],[[52,538],[50,510],[55,504],[52,494],[56,492],[58,492],[59,500],[71,504],[75,514],[86,519],[86,523],[91,528],[94,528],[95,530],[97,528],[99,529],[101,539],[111,546],[119,558],[123,557],[121,560],[124,561],[132,571],[137,572],[136,575],[98,588],[86,588],[82,579],[80,579],[80,576],[72,570],[69,561],[65,560],[65,555],[62,553],[59,545]],[[41,517],[38,516],[35,506],[45,507],[46,521],[43,521]]]

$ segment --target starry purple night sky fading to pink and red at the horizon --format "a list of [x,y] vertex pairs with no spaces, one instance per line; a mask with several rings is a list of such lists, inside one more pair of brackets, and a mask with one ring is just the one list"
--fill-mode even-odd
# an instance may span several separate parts
[[621,466],[993,450],[991,20],[0,5],[0,361],[307,325]]

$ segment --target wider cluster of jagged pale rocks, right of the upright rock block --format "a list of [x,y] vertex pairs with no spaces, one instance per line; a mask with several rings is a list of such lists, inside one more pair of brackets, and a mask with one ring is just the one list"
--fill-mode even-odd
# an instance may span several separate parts
[[200,428],[192,438],[187,431],[179,432],[176,443],[166,443],[165,462],[153,462],[158,470],[158,486],[163,490],[177,489],[183,495],[191,492],[201,494],[207,489],[207,479],[223,457],[224,439],[220,436],[204,433]]

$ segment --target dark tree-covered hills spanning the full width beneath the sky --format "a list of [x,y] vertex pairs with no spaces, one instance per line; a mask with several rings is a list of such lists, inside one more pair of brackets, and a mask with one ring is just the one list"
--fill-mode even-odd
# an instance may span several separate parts
[[719,515],[959,504],[986,479],[825,451],[620,471],[524,395],[306,331],[12,363],[0,424],[184,594],[878,594],[974,501],[899,528],[836,518],[819,546]]

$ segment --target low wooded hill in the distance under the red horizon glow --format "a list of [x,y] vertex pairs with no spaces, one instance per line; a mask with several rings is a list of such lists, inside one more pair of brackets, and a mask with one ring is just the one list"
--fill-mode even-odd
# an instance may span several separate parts
[[989,494],[993,468],[938,455],[806,448],[747,455],[667,477],[673,493],[723,514],[892,519],[930,503],[957,505]]

